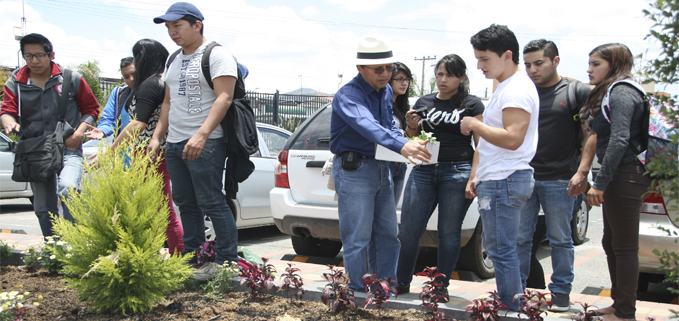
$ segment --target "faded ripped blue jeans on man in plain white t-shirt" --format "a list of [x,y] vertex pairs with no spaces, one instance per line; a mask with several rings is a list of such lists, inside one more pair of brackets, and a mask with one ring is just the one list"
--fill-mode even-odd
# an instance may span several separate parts
[[533,186],[530,170],[515,171],[506,179],[481,181],[476,185],[483,222],[483,246],[495,266],[500,300],[510,311],[519,309],[519,300],[514,301],[514,295],[523,293],[516,236],[521,209],[533,192]]

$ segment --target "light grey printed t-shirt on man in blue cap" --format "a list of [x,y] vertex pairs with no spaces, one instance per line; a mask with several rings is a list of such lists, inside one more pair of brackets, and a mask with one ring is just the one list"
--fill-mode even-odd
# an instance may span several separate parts
[[[215,102],[215,92],[205,81],[200,66],[208,44],[209,42],[205,42],[191,55],[180,52],[163,73],[162,79],[170,89],[167,136],[170,143],[179,143],[193,137],[207,119]],[[221,76],[238,77],[236,60],[223,46],[214,47],[210,53],[210,75],[212,80]],[[217,126],[209,138],[222,136],[222,126]]]

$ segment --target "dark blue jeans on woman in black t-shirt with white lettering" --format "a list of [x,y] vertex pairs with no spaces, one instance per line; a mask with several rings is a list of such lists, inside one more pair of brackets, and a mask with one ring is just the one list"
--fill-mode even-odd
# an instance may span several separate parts
[[410,284],[415,273],[415,261],[420,251],[420,239],[427,228],[432,211],[438,212],[438,278],[448,286],[450,276],[460,256],[462,221],[472,200],[464,190],[471,173],[471,162],[439,163],[415,166],[410,172],[401,208],[398,239],[401,253],[398,260],[398,281]]

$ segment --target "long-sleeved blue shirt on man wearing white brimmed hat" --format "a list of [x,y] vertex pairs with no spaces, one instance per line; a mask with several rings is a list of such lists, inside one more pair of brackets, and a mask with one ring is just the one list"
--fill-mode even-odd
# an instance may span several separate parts
[[391,86],[372,88],[359,73],[340,88],[332,101],[330,151],[375,156],[375,144],[400,153],[408,140],[393,119]]

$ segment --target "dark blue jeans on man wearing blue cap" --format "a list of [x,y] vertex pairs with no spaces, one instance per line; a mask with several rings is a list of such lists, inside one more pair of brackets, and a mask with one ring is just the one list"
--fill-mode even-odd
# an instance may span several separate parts
[[205,243],[205,218],[212,221],[215,263],[238,261],[238,229],[226,198],[222,178],[226,149],[222,138],[208,139],[194,160],[182,158],[187,141],[167,143],[165,161],[172,182],[172,198],[179,207],[184,227],[183,254],[195,252]]

